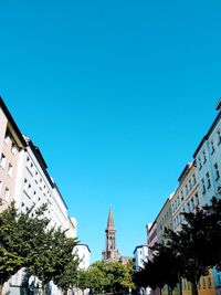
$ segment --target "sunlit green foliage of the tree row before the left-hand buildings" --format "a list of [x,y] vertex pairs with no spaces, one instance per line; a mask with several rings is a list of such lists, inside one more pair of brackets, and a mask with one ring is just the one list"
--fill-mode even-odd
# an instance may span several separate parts
[[[38,276],[45,284],[52,280],[61,282],[70,261],[74,263],[73,247],[77,241],[67,239],[60,229],[49,230],[50,220],[44,218],[46,207],[19,212],[14,204],[0,213],[0,291],[20,268]],[[59,280],[60,277],[60,280]],[[0,293],[1,294],[1,293]]]

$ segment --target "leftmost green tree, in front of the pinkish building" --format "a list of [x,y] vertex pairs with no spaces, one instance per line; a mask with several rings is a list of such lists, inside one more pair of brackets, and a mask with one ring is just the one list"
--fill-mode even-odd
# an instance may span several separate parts
[[38,234],[49,223],[42,218],[44,210],[45,207],[35,212],[18,212],[12,203],[0,213],[0,294],[4,282],[28,265]]

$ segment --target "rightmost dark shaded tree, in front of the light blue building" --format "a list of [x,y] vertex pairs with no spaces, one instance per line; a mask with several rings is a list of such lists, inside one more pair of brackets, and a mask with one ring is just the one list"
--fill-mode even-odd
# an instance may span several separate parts
[[182,263],[181,276],[191,283],[192,294],[198,294],[200,277],[221,261],[221,200],[212,198],[210,204],[183,215],[181,230],[167,230],[166,238]]

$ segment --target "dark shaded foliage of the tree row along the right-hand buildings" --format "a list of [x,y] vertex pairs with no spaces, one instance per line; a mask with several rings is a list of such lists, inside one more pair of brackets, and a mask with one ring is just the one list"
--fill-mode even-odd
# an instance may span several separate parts
[[221,200],[212,198],[210,204],[183,217],[181,230],[167,229],[167,244],[156,244],[154,260],[135,274],[138,286],[161,288],[167,284],[172,289],[182,276],[192,284],[192,293],[198,294],[200,277],[221,264]]

